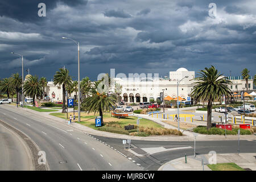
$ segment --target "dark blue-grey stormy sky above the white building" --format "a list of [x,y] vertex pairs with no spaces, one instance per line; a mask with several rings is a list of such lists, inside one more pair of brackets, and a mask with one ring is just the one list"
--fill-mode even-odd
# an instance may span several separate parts
[[[46,4],[46,17],[38,4]],[[216,3],[210,17],[209,3]],[[256,73],[255,0],[1,0],[0,78],[24,71],[51,80],[65,65],[77,80],[99,73],[159,73],[214,65],[226,76]],[[26,75],[26,74],[24,74]]]

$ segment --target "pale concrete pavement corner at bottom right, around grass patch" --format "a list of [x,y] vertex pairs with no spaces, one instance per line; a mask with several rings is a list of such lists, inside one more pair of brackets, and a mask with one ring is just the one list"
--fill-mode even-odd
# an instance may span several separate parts
[[[212,171],[207,164],[212,155],[197,155],[187,156],[187,163],[185,163],[185,156],[167,162],[161,166],[158,171],[202,171],[203,166],[201,160],[204,162],[204,171]],[[217,164],[219,163],[236,163],[241,168],[256,171],[256,153],[242,153],[242,154],[217,154]]]

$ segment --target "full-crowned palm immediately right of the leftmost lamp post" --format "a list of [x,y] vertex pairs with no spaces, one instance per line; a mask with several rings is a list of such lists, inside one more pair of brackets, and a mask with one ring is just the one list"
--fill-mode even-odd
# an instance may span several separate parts
[[44,92],[43,86],[38,80],[37,76],[28,77],[28,79],[24,82],[23,91],[26,96],[33,98],[33,107],[35,107],[35,97],[42,96]]

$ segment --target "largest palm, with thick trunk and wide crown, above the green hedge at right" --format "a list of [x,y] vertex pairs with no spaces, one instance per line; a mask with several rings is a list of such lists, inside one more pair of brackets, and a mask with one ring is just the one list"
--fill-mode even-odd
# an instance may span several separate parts
[[207,129],[212,127],[212,102],[220,100],[222,96],[230,97],[231,90],[229,85],[232,84],[227,77],[218,73],[215,67],[205,68],[201,70],[199,77],[194,78],[196,82],[193,84],[192,97],[195,102],[200,100],[208,102],[207,105]]

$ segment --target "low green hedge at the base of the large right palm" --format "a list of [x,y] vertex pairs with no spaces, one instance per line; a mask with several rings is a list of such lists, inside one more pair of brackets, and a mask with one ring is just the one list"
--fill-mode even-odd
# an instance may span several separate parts
[[[193,129],[193,131],[195,133],[200,133],[200,134],[225,135],[225,130],[217,128],[217,127],[212,127],[209,130],[207,130],[207,127],[205,127],[205,126],[197,126],[196,128]],[[237,132],[238,132],[238,129],[232,129],[232,131],[226,130],[227,135],[237,135]],[[251,135],[252,133],[250,130],[240,129],[240,134],[241,135]]]

